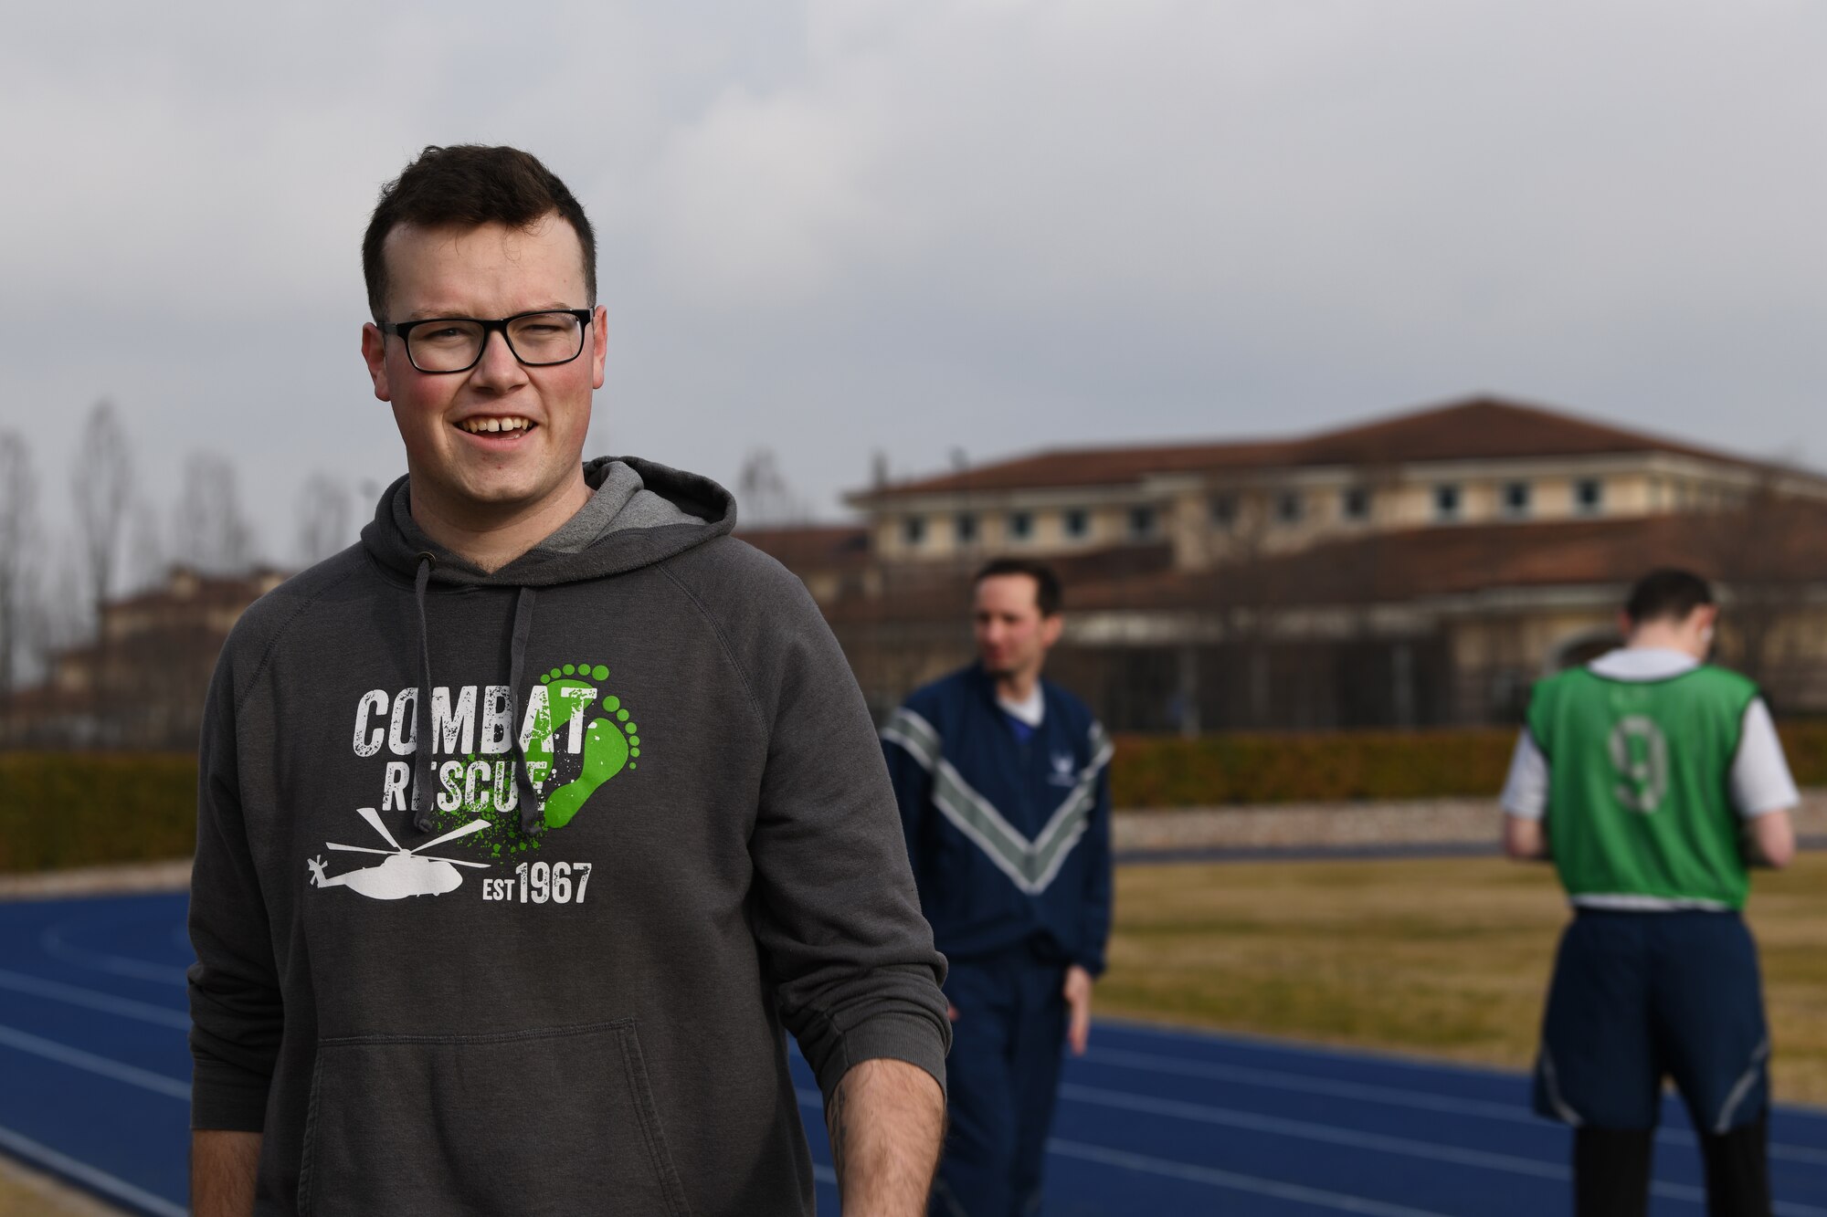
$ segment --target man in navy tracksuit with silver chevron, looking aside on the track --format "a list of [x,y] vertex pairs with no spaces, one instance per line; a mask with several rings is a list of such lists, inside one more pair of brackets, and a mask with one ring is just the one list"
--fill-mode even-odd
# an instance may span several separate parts
[[1040,678],[1060,581],[999,559],[976,579],[979,661],[882,729],[921,906],[950,959],[950,1129],[932,1213],[1040,1212],[1061,1042],[1085,1051],[1111,930],[1111,744]]

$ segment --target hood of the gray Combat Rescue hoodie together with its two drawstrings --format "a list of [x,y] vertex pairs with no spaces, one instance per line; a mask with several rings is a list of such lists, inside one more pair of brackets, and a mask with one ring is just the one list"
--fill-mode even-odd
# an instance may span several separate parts
[[[636,457],[599,457],[583,466],[590,499],[557,532],[499,570],[482,570],[426,535],[413,519],[411,484],[402,477],[375,508],[362,545],[382,566],[413,581],[420,693],[413,702],[413,738],[429,738],[431,640],[426,594],[433,583],[517,588],[508,640],[510,722],[521,722],[519,689],[526,676],[526,640],[533,632],[535,588],[603,579],[683,554],[736,526],[736,499],[709,477]],[[515,742],[521,828],[544,830],[544,804],[533,791],[526,740]],[[431,831],[431,749],[413,755],[413,822]]]

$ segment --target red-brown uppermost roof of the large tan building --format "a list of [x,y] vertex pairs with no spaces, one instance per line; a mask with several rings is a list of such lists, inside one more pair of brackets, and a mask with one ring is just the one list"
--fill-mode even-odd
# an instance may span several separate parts
[[1498,460],[1675,453],[1763,468],[1732,453],[1628,431],[1606,422],[1494,397],[1474,397],[1297,439],[1186,442],[1146,448],[1069,448],[985,464],[877,490],[859,506],[934,493],[1131,484],[1160,473],[1222,473],[1312,466],[1378,466],[1429,460]]

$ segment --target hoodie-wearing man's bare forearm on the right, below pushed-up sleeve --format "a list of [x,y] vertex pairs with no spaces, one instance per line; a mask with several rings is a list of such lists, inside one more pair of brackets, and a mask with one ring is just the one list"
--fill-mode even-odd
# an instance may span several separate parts
[[824,1127],[848,1217],[924,1215],[945,1135],[945,1093],[930,1073],[886,1058],[851,1065],[826,1104]]

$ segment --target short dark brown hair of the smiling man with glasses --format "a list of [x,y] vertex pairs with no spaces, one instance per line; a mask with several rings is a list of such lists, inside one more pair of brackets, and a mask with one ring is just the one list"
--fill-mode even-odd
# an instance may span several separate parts
[[596,307],[596,232],[583,205],[539,157],[519,148],[429,144],[418,159],[380,188],[375,216],[362,238],[362,278],[375,322],[387,320],[387,263],[380,247],[398,225],[418,228],[530,228],[557,212],[583,245],[583,281]]

